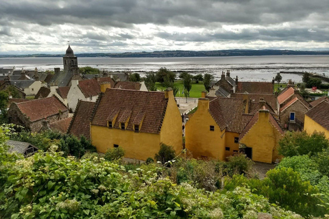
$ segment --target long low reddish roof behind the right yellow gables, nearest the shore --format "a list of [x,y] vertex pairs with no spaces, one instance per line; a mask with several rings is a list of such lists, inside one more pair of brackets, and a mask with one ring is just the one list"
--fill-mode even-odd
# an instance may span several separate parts
[[238,93],[273,94],[274,85],[271,82],[239,81],[236,87]]

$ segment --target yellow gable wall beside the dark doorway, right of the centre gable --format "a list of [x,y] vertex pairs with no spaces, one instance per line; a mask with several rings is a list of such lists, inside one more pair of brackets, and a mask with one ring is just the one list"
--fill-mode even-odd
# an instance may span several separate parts
[[252,148],[254,162],[272,163],[279,158],[277,146],[282,134],[269,122],[269,111],[260,110],[258,121],[240,140]]

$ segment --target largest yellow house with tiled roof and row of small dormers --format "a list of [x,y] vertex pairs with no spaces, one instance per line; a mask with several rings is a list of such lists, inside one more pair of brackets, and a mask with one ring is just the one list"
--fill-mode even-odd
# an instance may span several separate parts
[[182,118],[173,90],[145,92],[106,89],[100,94],[90,123],[90,137],[97,151],[121,146],[125,157],[154,158],[160,144],[182,151]]

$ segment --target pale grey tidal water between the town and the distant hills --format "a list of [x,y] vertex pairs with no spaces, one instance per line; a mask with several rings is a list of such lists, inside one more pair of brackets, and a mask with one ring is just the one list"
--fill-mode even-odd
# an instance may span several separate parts
[[[147,72],[166,67],[175,71],[213,73],[219,78],[222,70],[230,69],[243,81],[269,81],[279,71],[308,71],[329,75],[329,55],[282,55],[241,57],[157,57],[112,58],[78,57],[79,66],[92,66],[100,70]],[[62,57],[0,58],[0,67],[15,66],[16,69],[38,70],[63,68]],[[300,75],[282,74],[282,81],[301,81]]]

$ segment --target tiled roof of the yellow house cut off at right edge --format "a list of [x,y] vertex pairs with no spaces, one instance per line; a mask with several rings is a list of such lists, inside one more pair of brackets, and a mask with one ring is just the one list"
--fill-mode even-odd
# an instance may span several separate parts
[[312,109],[306,112],[306,116],[310,117],[316,123],[329,130],[329,103],[324,100]]

